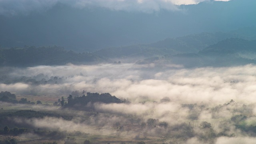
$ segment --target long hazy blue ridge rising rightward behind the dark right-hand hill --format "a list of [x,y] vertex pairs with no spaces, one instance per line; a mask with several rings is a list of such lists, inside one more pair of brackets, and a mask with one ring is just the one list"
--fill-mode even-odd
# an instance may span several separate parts
[[137,44],[124,47],[103,48],[94,54],[106,58],[129,58],[129,57],[152,57],[162,55],[175,55],[182,53],[197,53],[200,50],[216,44],[227,38],[240,38],[233,33],[203,32],[200,34],[190,34],[178,38],[167,38],[152,44]]

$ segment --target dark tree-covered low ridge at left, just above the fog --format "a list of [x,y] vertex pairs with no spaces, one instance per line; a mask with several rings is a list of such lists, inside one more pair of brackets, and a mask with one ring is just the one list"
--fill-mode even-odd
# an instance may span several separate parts
[[76,53],[58,46],[24,48],[1,48],[0,66],[37,66],[63,65],[67,63],[82,64],[103,61],[90,53]]

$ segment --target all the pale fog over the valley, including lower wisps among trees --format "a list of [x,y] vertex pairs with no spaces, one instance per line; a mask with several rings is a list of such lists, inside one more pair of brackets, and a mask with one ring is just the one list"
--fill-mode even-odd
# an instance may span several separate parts
[[[250,133],[242,132],[235,128],[235,120],[230,118],[235,115],[245,114],[247,126],[256,124],[256,66],[248,64],[235,67],[203,67],[183,68],[182,66],[155,66],[154,64],[138,65],[124,64],[98,64],[98,65],[73,65],[64,66],[36,66],[28,68],[3,68],[1,70],[2,84],[0,90],[10,91],[16,95],[27,96],[31,90],[38,96],[49,96],[58,93],[59,98],[67,98],[69,94],[82,96],[82,91],[110,93],[118,98],[125,98],[128,103],[120,104],[90,104],[95,112],[84,121],[80,117],[84,112],[71,112],[78,117],[70,120],[62,118],[32,118],[15,119],[21,124],[26,123],[35,128],[50,128],[62,131],[80,131],[90,134],[103,134],[120,136],[127,134],[136,135],[145,132],[140,128],[140,122],[150,118],[167,122],[170,127],[183,123],[194,126],[196,135],[203,135],[205,129],[200,128],[200,122],[210,122],[215,132],[227,135],[235,134],[236,137],[219,137],[214,143],[244,143],[256,140]],[[53,78],[57,77],[57,78]],[[23,79],[41,79],[48,81],[44,84],[35,84]],[[59,78],[62,78],[60,81]],[[54,79],[56,82],[50,83]],[[3,82],[8,80],[9,84]],[[74,92],[76,91],[76,92]],[[6,104],[6,103],[2,103]],[[2,105],[1,104],[1,105]],[[15,106],[15,105],[13,105]],[[16,105],[17,106],[17,105]],[[20,105],[20,108],[28,108]],[[24,107],[25,106],[25,107]],[[50,110],[51,106],[30,106],[35,110]],[[54,107],[52,110],[57,110]],[[66,112],[69,112],[67,109]],[[112,115],[112,116],[110,116]],[[128,128],[127,124],[137,120],[136,128]],[[119,122],[124,130],[112,127]],[[137,123],[136,123],[137,124]],[[95,126],[100,126],[96,129]],[[166,132],[160,127],[147,130],[148,134]],[[186,143],[200,143],[198,138],[190,138]]]

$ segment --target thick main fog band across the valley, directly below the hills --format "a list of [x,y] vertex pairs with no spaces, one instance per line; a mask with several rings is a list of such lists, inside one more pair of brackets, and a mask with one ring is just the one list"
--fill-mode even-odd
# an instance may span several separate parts
[[[131,102],[159,102],[168,97],[171,102],[223,104],[231,99],[241,103],[254,101],[256,92],[256,66],[194,68],[155,68],[154,65],[100,64],[65,66],[36,66],[6,68],[5,79],[17,81],[23,76],[46,81],[56,76],[62,78],[56,84],[32,84],[17,82],[0,84],[1,90],[15,93],[35,90],[41,95],[51,92],[71,94],[72,91],[110,93]],[[161,70],[157,70],[161,69]],[[6,73],[8,71],[8,73]],[[41,74],[41,75],[40,75]],[[57,80],[58,81],[58,80]],[[65,91],[64,91],[65,90]]]

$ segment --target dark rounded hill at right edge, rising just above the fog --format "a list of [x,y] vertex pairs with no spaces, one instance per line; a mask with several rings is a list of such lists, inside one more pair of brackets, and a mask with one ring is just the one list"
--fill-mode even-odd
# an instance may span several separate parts
[[165,55],[139,60],[136,64],[178,64],[186,68],[256,64],[256,40],[228,38],[197,53]]

